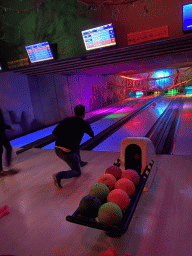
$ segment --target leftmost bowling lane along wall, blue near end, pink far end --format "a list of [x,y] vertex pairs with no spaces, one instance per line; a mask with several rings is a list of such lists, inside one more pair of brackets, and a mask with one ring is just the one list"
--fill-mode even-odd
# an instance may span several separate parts
[[[96,117],[97,115],[101,115],[101,114],[113,113],[114,111],[117,111],[120,108],[122,108],[122,105],[125,106],[125,105],[129,104],[131,101],[134,101],[134,100],[136,100],[136,98],[128,98],[128,99],[125,99],[121,102],[111,104],[108,107],[104,107],[104,108],[99,109],[99,110],[91,111],[89,113],[86,113],[85,119],[91,118],[93,116]],[[45,129],[41,129],[41,130],[36,131],[36,132],[32,132],[30,134],[19,137],[17,139],[11,140],[11,144],[14,148],[21,148],[24,145],[27,145],[29,143],[32,143],[32,142],[36,141],[36,140],[42,139],[43,137],[51,135],[52,131],[54,130],[54,128],[56,126],[57,126],[57,124],[49,126]]]

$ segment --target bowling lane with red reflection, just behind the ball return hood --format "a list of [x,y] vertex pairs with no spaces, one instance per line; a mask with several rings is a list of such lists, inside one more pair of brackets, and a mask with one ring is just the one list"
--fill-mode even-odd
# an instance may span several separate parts
[[139,113],[93,150],[120,152],[122,139],[127,137],[145,137],[156,120],[164,112],[169,102],[170,99],[161,98],[156,106],[151,105]]

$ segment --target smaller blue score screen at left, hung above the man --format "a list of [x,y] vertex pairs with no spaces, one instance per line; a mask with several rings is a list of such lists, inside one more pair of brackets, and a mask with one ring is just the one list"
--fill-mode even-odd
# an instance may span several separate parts
[[25,46],[25,48],[31,63],[54,59],[48,42]]

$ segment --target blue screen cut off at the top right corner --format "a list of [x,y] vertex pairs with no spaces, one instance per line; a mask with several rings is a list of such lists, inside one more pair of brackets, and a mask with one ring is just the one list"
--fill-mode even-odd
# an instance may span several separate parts
[[183,5],[183,32],[192,32],[192,3]]

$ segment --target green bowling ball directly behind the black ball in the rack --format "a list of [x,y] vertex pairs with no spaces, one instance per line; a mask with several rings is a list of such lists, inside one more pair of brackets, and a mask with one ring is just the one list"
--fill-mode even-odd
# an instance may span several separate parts
[[101,203],[104,203],[107,201],[109,192],[110,190],[105,184],[96,183],[95,185],[91,186],[89,195],[98,197],[101,200]]

